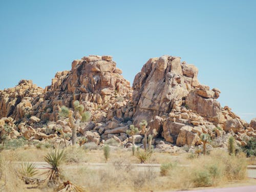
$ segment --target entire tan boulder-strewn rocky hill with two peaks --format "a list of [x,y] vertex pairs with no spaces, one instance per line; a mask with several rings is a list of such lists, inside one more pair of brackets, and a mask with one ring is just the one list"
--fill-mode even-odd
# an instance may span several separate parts
[[[121,73],[111,56],[92,55],[74,60],[71,71],[56,73],[45,89],[21,80],[15,88],[0,91],[0,126],[12,127],[10,138],[60,142],[58,127],[65,133],[71,129],[59,118],[59,107],[73,108],[73,101],[79,100],[92,117],[79,124],[78,136],[97,143],[112,137],[126,143],[129,125],[139,126],[143,119],[157,130],[155,143],[164,140],[171,146],[199,145],[202,133],[217,140],[231,134],[240,145],[256,137],[256,119],[248,124],[228,106],[222,108],[216,100],[221,91],[200,84],[198,69],[180,57],[149,59],[133,88]],[[136,142],[141,139],[136,136]]]

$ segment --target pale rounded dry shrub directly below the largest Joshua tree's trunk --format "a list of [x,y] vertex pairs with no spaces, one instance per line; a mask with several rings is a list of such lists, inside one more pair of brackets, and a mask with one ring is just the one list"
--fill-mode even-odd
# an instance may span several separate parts
[[65,150],[65,162],[79,163],[86,158],[86,151],[82,147],[68,146]]

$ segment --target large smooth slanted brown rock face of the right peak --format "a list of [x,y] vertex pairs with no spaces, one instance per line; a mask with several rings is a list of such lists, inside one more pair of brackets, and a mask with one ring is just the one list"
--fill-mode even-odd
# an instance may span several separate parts
[[[194,70],[191,73],[196,77],[197,70]],[[183,76],[179,57],[164,55],[148,60],[133,83],[135,124],[142,119],[149,121],[156,115],[169,113],[175,101],[188,94],[187,87],[191,87],[192,77],[188,78],[190,81]]]

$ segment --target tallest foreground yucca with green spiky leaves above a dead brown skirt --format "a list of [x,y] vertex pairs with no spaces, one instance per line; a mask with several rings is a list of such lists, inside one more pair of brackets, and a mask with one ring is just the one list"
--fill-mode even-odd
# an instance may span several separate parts
[[49,164],[49,169],[46,173],[50,182],[56,183],[60,179],[60,164],[65,160],[64,150],[53,150],[46,154],[45,161]]

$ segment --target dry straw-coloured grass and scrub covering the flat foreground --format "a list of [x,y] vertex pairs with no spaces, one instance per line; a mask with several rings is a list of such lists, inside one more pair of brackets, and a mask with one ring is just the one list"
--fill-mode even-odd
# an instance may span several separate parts
[[[31,188],[24,185],[16,174],[14,161],[42,161],[47,149],[28,148],[3,151],[5,159],[0,191],[51,191],[51,188]],[[87,167],[83,162],[103,163],[103,151],[84,151],[79,147],[68,147],[66,153],[70,160],[62,166],[65,180],[84,186],[88,191],[157,191],[190,189],[193,187],[221,186],[230,181],[241,183],[246,179],[246,158],[243,154],[229,156],[223,151],[212,151],[209,156],[186,159],[186,154],[172,156],[168,153],[154,152],[148,163],[172,163],[164,174],[151,168],[143,170],[133,167],[139,160],[132,156],[131,149],[111,147],[111,155],[105,167]],[[252,159],[251,161],[254,161]],[[248,159],[247,159],[248,161]],[[74,164],[70,164],[70,162]],[[30,188],[28,188],[30,187]]]

